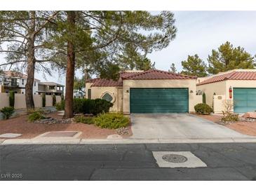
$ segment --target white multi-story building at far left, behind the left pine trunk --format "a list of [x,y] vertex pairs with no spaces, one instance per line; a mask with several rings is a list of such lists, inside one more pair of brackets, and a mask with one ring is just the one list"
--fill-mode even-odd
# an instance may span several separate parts
[[[0,92],[13,90],[16,93],[25,94],[27,75],[17,71],[3,71],[0,74]],[[39,80],[34,78],[33,94],[38,91]]]

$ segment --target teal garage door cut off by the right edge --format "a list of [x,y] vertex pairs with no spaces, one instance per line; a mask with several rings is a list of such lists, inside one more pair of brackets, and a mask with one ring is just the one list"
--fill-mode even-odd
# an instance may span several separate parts
[[234,111],[256,111],[256,88],[234,88]]

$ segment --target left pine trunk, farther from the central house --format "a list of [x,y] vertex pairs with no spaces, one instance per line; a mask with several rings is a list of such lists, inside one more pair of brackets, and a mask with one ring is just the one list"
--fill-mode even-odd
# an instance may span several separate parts
[[27,38],[27,83],[25,85],[25,100],[27,109],[34,109],[33,86],[34,86],[34,31],[35,31],[35,11],[30,12],[30,29]]

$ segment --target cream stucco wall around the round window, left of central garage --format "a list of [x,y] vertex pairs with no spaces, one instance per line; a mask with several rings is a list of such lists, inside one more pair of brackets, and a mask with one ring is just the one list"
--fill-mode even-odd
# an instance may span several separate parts
[[90,87],[92,83],[86,83],[86,98],[88,99],[88,89],[91,89],[91,99],[95,100],[101,98],[105,92],[108,92],[109,95],[112,95],[114,100],[112,100],[113,107],[109,109],[111,112],[121,112],[122,111],[122,88],[116,87]]

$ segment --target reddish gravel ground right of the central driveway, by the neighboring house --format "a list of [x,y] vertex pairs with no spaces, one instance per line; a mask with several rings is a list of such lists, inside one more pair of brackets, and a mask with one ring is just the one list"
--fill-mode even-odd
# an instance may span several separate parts
[[[222,116],[215,116],[215,115],[199,115],[199,114],[194,114],[194,115],[200,116],[201,118],[206,118],[209,121],[213,121],[214,123],[219,123],[219,124],[220,124],[220,118],[222,118]],[[232,130],[240,132],[244,135],[256,136],[256,121],[254,122],[238,121],[237,123],[231,123],[225,126]]]

